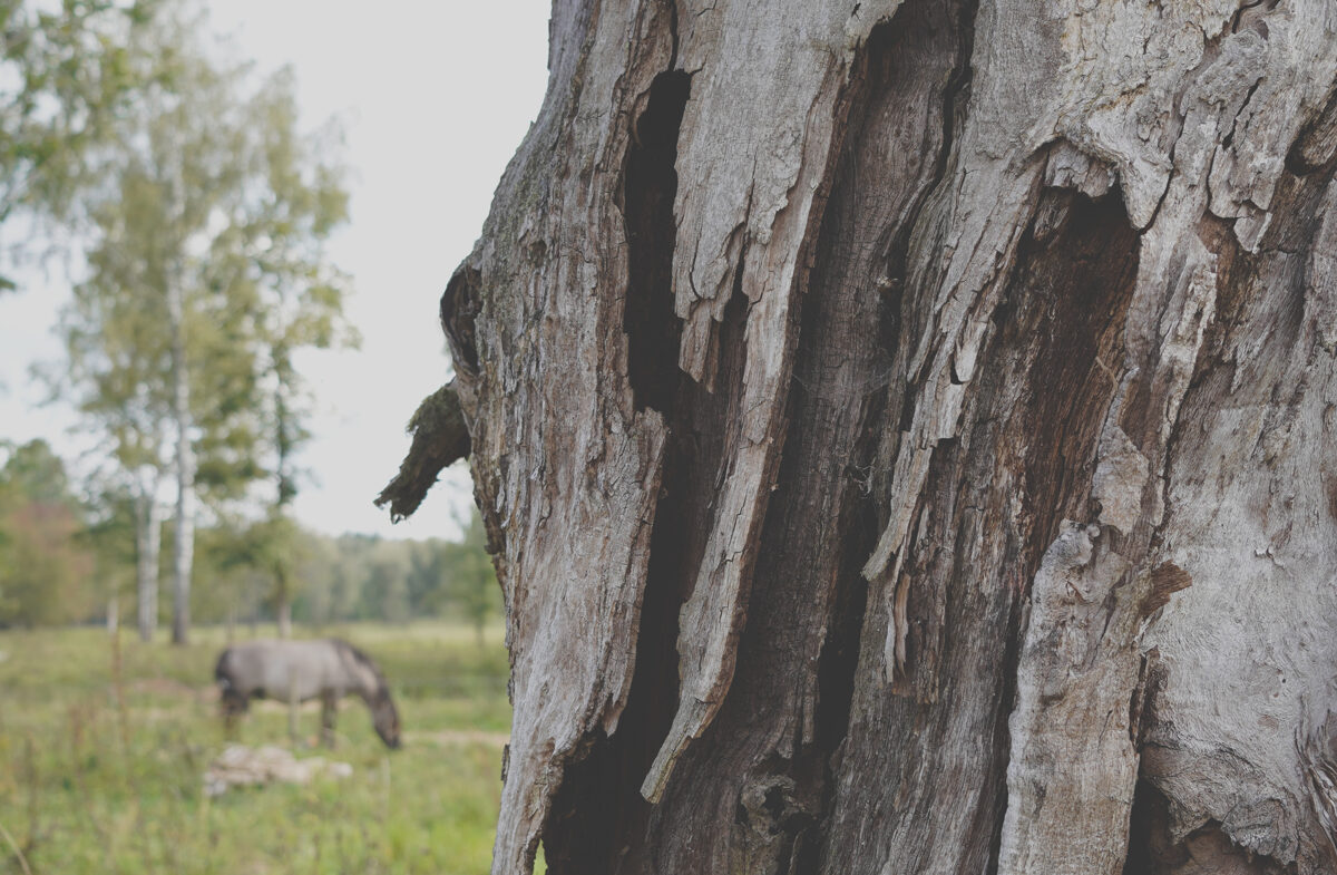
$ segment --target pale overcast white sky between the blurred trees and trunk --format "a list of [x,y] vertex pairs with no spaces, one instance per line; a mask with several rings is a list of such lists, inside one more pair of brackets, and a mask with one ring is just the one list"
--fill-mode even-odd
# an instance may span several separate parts
[[[428,538],[455,531],[468,474],[456,464],[398,526],[372,506],[408,448],[404,424],[448,375],[437,300],[473,246],[507,162],[547,84],[548,0],[211,0],[215,31],[261,70],[291,64],[303,124],[344,120],[352,221],[330,246],[349,272],[357,352],[313,353],[316,483],[298,519],[324,532]],[[71,413],[39,407],[28,365],[57,360],[66,284],[0,297],[0,439],[47,438],[72,454]]]

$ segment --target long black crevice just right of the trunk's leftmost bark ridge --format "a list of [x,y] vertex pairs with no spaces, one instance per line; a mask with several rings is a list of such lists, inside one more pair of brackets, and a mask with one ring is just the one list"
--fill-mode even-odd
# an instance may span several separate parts
[[[677,12],[670,9],[674,54],[675,21]],[[702,496],[714,487],[723,450],[723,411],[718,407],[727,399],[694,391],[678,369],[682,321],[674,314],[671,281],[678,186],[674,163],[690,88],[691,78],[682,71],[655,76],[635,120],[623,171],[627,376],[636,407],[654,408],[666,417],[668,442],[627,705],[618,731],[595,739],[590,753],[568,769],[554,800],[544,848],[555,874],[612,871],[643,831],[648,804],[640,796],[640,781],[673,718],[678,611],[691,585],[691,557],[699,557],[703,549],[689,520],[706,511]],[[730,313],[731,324],[737,325],[738,310]]]

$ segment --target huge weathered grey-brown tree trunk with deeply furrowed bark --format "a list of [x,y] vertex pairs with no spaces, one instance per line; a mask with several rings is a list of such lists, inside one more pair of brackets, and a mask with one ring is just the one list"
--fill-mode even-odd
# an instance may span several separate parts
[[1334,17],[556,0],[495,872],[1337,871]]

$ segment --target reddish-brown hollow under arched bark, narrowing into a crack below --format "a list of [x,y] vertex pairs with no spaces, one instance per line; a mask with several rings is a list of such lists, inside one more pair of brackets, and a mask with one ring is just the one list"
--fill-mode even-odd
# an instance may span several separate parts
[[[996,446],[1021,448],[1005,463],[1011,479],[1021,486],[1021,518],[1013,520],[1015,539],[1001,562],[1013,571],[999,581],[1005,589],[1015,587],[1019,598],[1009,601],[997,673],[1001,696],[992,739],[999,757],[993,769],[995,813],[975,821],[977,840],[988,846],[991,872],[997,871],[1008,805],[1008,721],[1025,636],[1021,597],[1064,520],[1099,518],[1099,503],[1091,499],[1096,450],[1119,385],[1138,254],[1138,234],[1118,193],[1091,199],[1071,190],[1046,190],[1017,248],[1016,268],[995,314],[995,360],[1013,363],[997,387],[1001,393],[995,395],[995,404],[1009,408],[995,411],[1004,423]],[[1020,396],[1011,403],[1004,388],[1008,385],[1020,387]],[[956,554],[965,555],[965,546],[960,545]],[[1107,618],[1112,599],[1111,593]],[[944,618],[945,631],[956,626]]]

